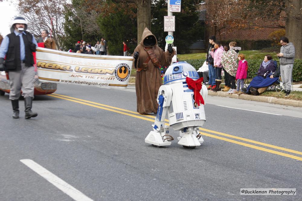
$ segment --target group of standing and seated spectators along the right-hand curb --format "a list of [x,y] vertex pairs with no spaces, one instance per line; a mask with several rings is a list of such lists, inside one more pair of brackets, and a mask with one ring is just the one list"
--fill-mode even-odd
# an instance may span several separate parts
[[[234,41],[223,47],[219,41],[216,41],[215,36],[210,36],[207,59],[198,70],[199,75],[204,77],[204,83],[208,84],[208,90],[253,95],[259,95],[269,86],[278,83],[281,75],[285,96],[289,96],[295,48],[287,37],[281,37],[280,44],[280,53],[277,53],[280,67],[277,67],[277,62],[272,60],[271,55],[265,55],[264,60],[259,65],[257,76],[252,79],[247,88],[244,88],[248,72],[248,61],[245,59],[244,54],[239,53],[241,48],[237,47],[237,43]],[[220,88],[222,70],[224,71],[224,89]]]

